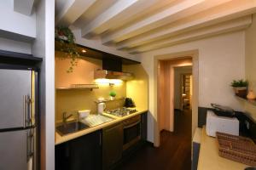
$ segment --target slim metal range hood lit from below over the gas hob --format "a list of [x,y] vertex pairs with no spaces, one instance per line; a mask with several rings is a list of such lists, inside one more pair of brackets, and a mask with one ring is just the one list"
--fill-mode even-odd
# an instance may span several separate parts
[[106,79],[120,79],[120,80],[131,80],[134,75],[130,72],[120,72],[120,71],[107,71],[107,70],[97,70],[94,72],[94,78],[106,78]]

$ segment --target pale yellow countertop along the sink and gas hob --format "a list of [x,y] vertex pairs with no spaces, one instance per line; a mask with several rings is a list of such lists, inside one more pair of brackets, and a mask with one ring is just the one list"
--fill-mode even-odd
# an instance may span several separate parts
[[55,132],[55,145],[67,142],[68,140],[71,140],[71,139],[79,138],[80,136],[84,136],[85,134],[95,132],[96,130],[102,129],[104,127],[108,127],[108,126],[113,125],[117,122],[122,122],[125,119],[131,118],[132,116],[137,116],[137,115],[140,115],[140,114],[148,111],[148,110],[139,109],[139,108],[136,108],[136,110],[137,110],[136,113],[133,113],[133,114],[128,115],[128,116],[123,116],[123,117],[113,116],[113,115],[109,115],[107,113],[103,113],[102,115],[112,117],[114,120],[110,121],[110,122],[102,123],[102,124],[97,125],[95,127],[86,128],[86,129],[81,130],[81,131],[76,132],[76,133],[70,133],[70,134],[67,134],[65,136],[61,136],[59,133]]

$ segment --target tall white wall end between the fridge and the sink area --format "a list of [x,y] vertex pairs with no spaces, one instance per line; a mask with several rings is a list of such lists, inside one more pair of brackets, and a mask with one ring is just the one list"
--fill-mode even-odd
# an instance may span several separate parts
[[32,54],[40,65],[40,122],[42,170],[55,169],[55,1],[40,0],[37,8],[37,38]]

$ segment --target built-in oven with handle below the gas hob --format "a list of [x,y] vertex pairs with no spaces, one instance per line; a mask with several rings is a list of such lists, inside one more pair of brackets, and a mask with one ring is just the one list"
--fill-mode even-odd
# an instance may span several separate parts
[[124,143],[123,150],[127,150],[141,139],[141,116],[133,116],[123,122]]

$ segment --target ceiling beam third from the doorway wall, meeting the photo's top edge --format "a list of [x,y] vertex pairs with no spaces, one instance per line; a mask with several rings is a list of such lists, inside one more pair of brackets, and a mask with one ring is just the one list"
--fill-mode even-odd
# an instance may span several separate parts
[[174,21],[181,20],[191,14],[196,14],[209,8],[227,3],[230,0],[185,0],[166,8],[157,14],[153,14],[144,20],[140,20],[131,26],[127,26],[119,31],[114,31],[102,37],[102,43],[121,42],[131,37],[152,31],[160,26],[166,26]]

